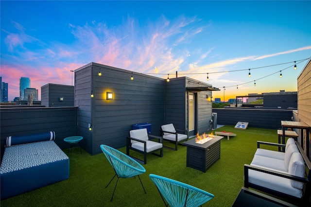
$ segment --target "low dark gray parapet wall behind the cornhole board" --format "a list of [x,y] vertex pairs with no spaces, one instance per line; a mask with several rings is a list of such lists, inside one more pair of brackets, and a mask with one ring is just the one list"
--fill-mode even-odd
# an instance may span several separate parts
[[279,129],[281,121],[291,121],[292,110],[281,109],[235,109],[213,108],[217,113],[217,123],[221,125],[236,125],[238,121],[249,122],[249,127]]

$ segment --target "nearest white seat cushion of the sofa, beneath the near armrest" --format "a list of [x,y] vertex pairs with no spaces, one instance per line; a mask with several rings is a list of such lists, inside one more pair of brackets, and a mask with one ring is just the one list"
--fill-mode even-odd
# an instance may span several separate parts
[[[257,165],[253,165],[253,166],[257,166]],[[261,167],[261,166],[257,166],[257,167]],[[264,168],[264,167],[261,167],[261,168]],[[265,169],[273,170],[270,168],[265,168]],[[280,176],[249,170],[248,182],[258,185],[258,186],[268,188],[268,189],[286,193],[288,195],[293,195],[297,198],[302,197],[302,190],[294,188],[291,185],[290,179],[283,178]]]

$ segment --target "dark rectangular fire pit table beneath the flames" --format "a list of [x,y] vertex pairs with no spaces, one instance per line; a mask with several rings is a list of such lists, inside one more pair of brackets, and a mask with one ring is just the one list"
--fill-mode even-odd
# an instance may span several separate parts
[[187,146],[187,167],[206,172],[220,159],[220,140],[222,136],[214,136],[207,142],[200,144],[195,138],[183,143]]

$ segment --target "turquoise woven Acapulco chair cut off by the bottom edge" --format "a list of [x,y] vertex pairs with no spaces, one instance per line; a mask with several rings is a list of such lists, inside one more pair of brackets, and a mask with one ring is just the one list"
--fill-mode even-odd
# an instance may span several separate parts
[[155,174],[150,174],[149,177],[167,207],[198,207],[214,197],[213,194],[207,191],[176,180]]

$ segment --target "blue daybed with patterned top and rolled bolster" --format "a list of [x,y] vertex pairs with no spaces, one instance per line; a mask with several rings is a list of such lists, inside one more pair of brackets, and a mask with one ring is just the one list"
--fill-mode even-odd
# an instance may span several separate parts
[[54,132],[6,138],[1,200],[69,178],[69,157],[54,139]]

